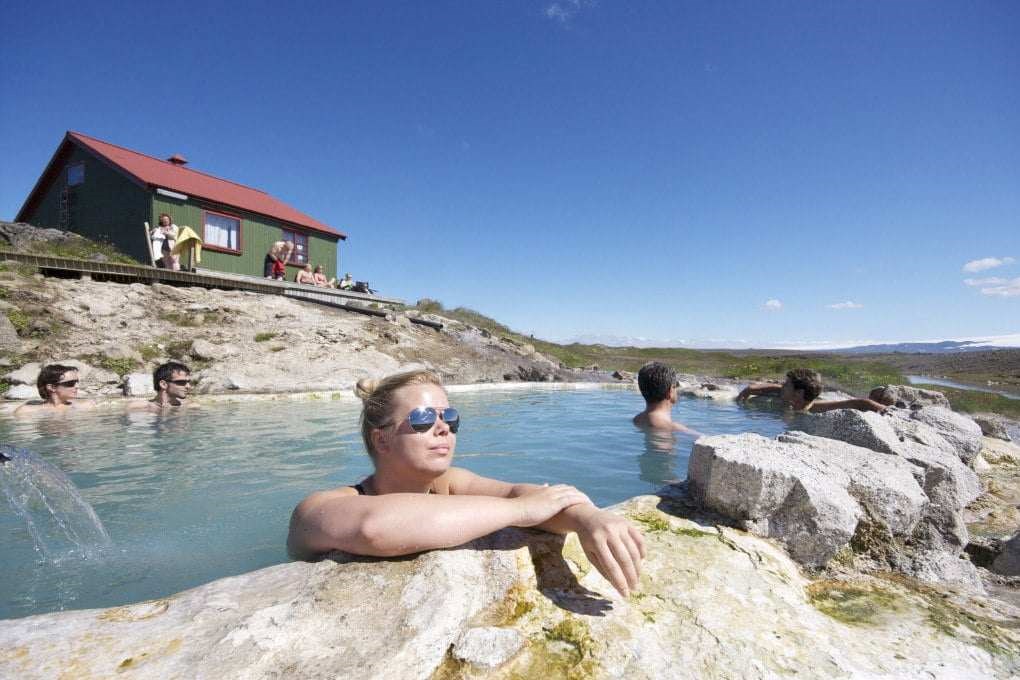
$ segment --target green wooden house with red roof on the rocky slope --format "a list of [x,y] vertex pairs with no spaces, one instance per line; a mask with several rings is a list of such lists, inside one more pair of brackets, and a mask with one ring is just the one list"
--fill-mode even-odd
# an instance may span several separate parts
[[144,224],[166,213],[203,241],[203,269],[262,275],[275,241],[291,240],[288,279],[306,263],[337,275],[338,246],[347,234],[265,192],[68,132],[17,213],[17,221],[105,241],[150,262]]

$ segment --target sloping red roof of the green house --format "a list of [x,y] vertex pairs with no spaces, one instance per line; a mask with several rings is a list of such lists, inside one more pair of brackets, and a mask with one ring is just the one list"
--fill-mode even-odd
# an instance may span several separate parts
[[169,161],[146,156],[81,133],[68,132],[67,138],[92,150],[136,179],[154,188],[169,189],[188,196],[196,196],[234,208],[274,217],[321,233],[347,239],[346,233],[309,217],[258,189],[245,187]]

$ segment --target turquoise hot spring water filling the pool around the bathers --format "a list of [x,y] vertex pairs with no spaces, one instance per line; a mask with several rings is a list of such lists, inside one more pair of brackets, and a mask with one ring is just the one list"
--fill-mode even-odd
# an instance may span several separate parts
[[[478,474],[572,483],[603,507],[686,475],[694,437],[636,430],[630,417],[643,402],[632,389],[455,390],[450,401],[463,418],[455,465]],[[65,473],[109,536],[41,546],[0,494],[0,619],[150,599],[286,562],[294,506],[371,470],[358,413],[351,399],[0,417],[0,442]],[[706,434],[786,429],[764,404],[684,400],[673,413]]]

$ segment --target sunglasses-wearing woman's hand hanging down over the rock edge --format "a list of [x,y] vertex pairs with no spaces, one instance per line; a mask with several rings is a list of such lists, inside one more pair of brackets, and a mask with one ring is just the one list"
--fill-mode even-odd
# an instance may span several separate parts
[[621,595],[628,596],[638,587],[641,561],[645,559],[641,529],[604,510],[595,510],[579,523],[577,537],[584,555]]

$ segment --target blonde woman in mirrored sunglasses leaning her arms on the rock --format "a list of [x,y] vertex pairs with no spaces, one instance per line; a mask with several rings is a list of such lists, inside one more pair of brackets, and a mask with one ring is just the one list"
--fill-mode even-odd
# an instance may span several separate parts
[[287,546],[310,560],[340,550],[395,557],[460,545],[510,526],[575,531],[592,564],[624,596],[638,586],[642,532],[567,484],[514,484],[452,467],[460,414],[430,371],[363,379],[361,436],[375,471],[316,491],[291,517]]

